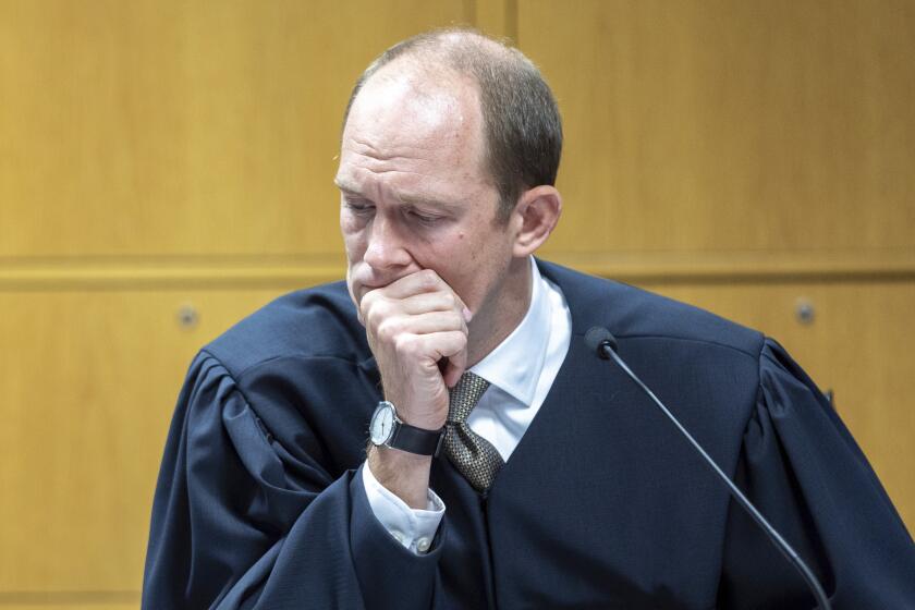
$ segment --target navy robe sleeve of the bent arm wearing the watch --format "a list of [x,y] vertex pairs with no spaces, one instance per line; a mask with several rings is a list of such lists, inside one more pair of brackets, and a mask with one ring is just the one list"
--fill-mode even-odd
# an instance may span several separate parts
[[318,453],[283,448],[202,352],[159,473],[143,608],[428,609],[444,525],[411,552],[371,513],[361,473],[333,478]]

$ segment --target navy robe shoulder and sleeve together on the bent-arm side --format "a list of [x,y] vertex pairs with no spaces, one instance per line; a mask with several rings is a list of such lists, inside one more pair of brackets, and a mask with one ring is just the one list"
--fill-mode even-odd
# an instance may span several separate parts
[[162,459],[144,608],[428,608],[441,545],[404,549],[357,472],[378,400],[367,354],[342,284],[280,297],[200,351]]

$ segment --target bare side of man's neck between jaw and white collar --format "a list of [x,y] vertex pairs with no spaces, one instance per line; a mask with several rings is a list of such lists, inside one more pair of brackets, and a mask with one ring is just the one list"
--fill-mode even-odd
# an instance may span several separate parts
[[467,368],[472,367],[517,328],[530,307],[530,261],[512,259],[505,278],[469,325]]

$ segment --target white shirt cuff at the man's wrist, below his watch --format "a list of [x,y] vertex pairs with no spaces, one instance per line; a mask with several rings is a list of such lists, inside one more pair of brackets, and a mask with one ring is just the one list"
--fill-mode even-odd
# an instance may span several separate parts
[[378,483],[368,462],[363,469],[363,485],[376,518],[396,541],[417,554],[429,550],[436,530],[444,516],[444,502],[429,489],[426,510],[411,509],[395,493]]

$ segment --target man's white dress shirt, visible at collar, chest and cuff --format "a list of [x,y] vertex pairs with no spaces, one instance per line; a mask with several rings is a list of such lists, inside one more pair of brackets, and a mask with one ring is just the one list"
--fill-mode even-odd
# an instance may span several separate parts
[[[524,319],[469,368],[490,387],[467,425],[507,462],[544,404],[572,337],[572,315],[562,292],[540,276],[533,257],[530,267],[530,305]],[[411,509],[378,483],[368,464],[363,467],[363,485],[375,516],[391,536],[414,552],[426,552],[444,516],[441,498],[429,489],[426,510]]]

